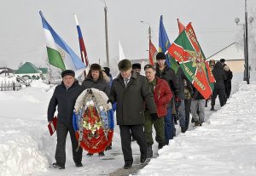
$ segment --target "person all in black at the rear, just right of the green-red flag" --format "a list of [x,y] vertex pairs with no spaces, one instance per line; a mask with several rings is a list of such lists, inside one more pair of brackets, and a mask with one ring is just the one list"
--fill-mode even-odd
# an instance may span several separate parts
[[212,92],[212,108],[211,111],[214,111],[215,99],[219,99],[220,106],[224,106],[225,104],[225,86],[224,81],[227,79],[226,74],[224,72],[223,65],[220,62],[217,62],[214,65],[212,74],[216,80],[214,84],[214,90]]

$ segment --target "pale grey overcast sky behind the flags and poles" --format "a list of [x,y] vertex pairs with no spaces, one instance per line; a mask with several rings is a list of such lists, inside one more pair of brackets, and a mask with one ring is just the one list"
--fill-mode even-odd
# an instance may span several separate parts
[[[250,14],[254,1],[247,0],[248,16],[254,15]],[[148,25],[140,20],[151,25],[152,40],[158,48],[160,14],[163,14],[171,43],[178,33],[177,18],[184,25],[191,21],[207,57],[236,42],[237,35],[241,33],[241,26],[236,26],[234,22],[236,17],[244,22],[244,0],[106,0],[106,3],[110,61],[118,55],[119,41],[126,58],[148,58]],[[0,66],[8,65],[16,69],[20,61],[45,65],[47,54],[39,10],[79,54],[73,17],[74,13],[77,14],[90,63],[101,59],[102,65],[105,65],[103,8],[102,0],[1,0]]]

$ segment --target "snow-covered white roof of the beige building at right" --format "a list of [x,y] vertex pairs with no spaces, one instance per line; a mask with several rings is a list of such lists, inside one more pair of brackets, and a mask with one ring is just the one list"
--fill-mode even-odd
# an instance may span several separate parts
[[241,43],[231,43],[225,48],[220,49],[217,53],[212,54],[207,60],[244,60],[243,45]]

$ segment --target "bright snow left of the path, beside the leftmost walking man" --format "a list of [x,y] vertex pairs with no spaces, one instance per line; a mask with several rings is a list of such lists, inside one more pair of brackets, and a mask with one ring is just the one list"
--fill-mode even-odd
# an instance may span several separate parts
[[[35,82],[37,83],[37,82]],[[38,83],[39,84],[39,83]],[[38,85],[34,84],[34,85]],[[54,156],[46,111],[52,93],[42,83],[20,91],[0,92],[0,175],[45,172]]]

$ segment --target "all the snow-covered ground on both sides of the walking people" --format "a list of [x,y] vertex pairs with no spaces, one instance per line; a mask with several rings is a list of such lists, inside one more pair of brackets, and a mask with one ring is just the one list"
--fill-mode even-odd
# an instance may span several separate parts
[[[233,90],[237,92],[219,111],[212,114],[207,108],[202,127],[190,126],[187,133],[179,133],[177,126],[177,137],[138,174],[256,175],[256,82],[247,85],[241,75],[234,76]],[[113,150],[106,156],[87,157],[84,152],[84,167],[77,168],[68,137],[66,169],[50,168],[56,137],[49,136],[46,111],[53,91],[54,87],[34,81],[20,91],[0,92],[0,175],[106,175],[123,167],[119,128],[115,128]],[[136,142],[132,148],[136,166],[140,156]],[[154,156],[156,148],[155,144]]]

